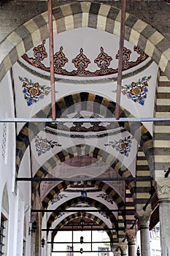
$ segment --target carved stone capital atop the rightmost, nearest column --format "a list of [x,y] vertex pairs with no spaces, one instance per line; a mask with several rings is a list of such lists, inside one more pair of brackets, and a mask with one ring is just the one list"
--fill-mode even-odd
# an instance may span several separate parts
[[157,178],[154,181],[159,200],[170,200],[170,179]]

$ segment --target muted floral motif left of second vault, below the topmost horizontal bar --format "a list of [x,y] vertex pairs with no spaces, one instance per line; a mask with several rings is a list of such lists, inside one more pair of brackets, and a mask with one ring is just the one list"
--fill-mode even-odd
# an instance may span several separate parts
[[55,146],[62,146],[62,145],[59,144],[57,141],[47,140],[47,138],[43,139],[42,137],[39,137],[38,135],[36,135],[35,148],[38,156],[45,154],[47,151],[50,151],[50,149],[54,148]]

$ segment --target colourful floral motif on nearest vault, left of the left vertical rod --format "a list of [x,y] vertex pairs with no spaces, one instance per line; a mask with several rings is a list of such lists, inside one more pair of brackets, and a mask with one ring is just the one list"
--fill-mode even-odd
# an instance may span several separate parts
[[19,79],[23,83],[23,95],[28,106],[38,102],[39,99],[44,99],[51,91],[50,86],[41,86],[39,83],[33,83],[31,79],[28,80],[28,78],[19,77]]

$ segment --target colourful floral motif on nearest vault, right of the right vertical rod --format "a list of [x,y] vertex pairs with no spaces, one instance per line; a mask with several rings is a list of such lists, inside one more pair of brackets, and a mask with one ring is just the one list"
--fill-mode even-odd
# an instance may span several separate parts
[[140,105],[144,105],[144,100],[147,98],[148,81],[149,77],[144,76],[137,82],[132,82],[130,85],[121,86],[122,94],[126,95],[128,99],[132,99],[134,102],[138,102]]

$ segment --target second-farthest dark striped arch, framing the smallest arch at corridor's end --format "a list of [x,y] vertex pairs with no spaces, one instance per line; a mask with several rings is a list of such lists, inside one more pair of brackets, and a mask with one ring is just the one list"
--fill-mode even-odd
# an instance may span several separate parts
[[[72,206],[76,206],[78,203],[82,203],[81,197],[74,197],[71,200],[68,200],[65,203],[61,204],[61,206],[59,206],[58,208],[55,208],[55,210],[53,210],[53,213],[47,220],[47,228],[49,229],[53,225],[55,219],[57,219],[58,211],[63,212],[63,210],[70,208]],[[107,217],[109,218],[110,222],[112,222],[113,227],[117,227],[117,219],[115,218],[115,215],[112,214],[112,211],[109,211],[109,208],[107,206],[99,202],[97,199],[94,200],[90,197],[86,198],[85,203],[88,203],[89,206],[97,208],[99,212],[104,211],[104,213],[107,214]],[[88,209],[86,211],[88,211]]]

